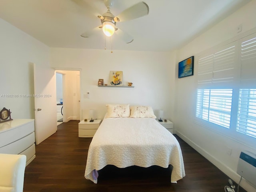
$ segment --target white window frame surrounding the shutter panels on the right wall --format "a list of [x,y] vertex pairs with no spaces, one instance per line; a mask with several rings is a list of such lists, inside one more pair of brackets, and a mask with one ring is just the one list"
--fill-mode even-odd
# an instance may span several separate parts
[[[200,54],[195,56],[195,63],[196,63],[196,68],[195,72],[198,74],[199,72],[199,60],[200,58],[205,58],[208,59],[207,57],[210,55],[214,55],[214,52],[218,52],[221,48],[229,46],[228,44],[236,44],[237,46],[237,55],[236,55],[236,66],[234,66],[234,78],[232,82],[214,82],[214,70],[212,70],[212,80],[206,79],[205,81],[201,79],[195,78],[195,83],[197,84],[196,86],[196,91],[195,91],[195,102],[194,102],[194,123],[212,130],[214,132],[217,132],[218,134],[221,134],[223,136],[226,136],[227,138],[234,140],[236,142],[239,142],[241,144],[244,144],[250,148],[255,149],[256,145],[256,138],[246,135],[244,133],[238,132],[236,130],[236,123],[237,123],[237,116],[238,116],[238,99],[239,99],[239,90],[242,88],[249,88],[249,89],[255,89],[256,87],[256,78],[252,76],[250,79],[244,79],[240,78],[242,73],[241,70],[243,70],[242,66],[242,56],[241,56],[241,51],[242,50],[242,43],[246,42],[247,40],[251,40],[253,38],[256,38],[256,29],[255,30],[250,30],[244,34],[240,34],[239,36],[232,38],[226,42],[223,42],[217,46],[214,46],[213,48],[206,50],[204,52],[201,52]],[[254,65],[250,63],[252,70],[255,70]],[[214,67],[213,67],[214,68]],[[251,69],[250,68],[250,69]],[[208,68],[209,69],[209,68]],[[250,72],[251,70],[246,69],[247,71]],[[208,72],[209,74],[209,72]],[[201,74],[202,75],[202,74]],[[244,74],[243,74],[244,75]],[[199,81],[198,81],[199,80]],[[198,117],[196,117],[196,107],[197,107],[197,90],[198,89],[225,89],[225,88],[232,88],[233,89],[233,96],[232,96],[232,108],[231,108],[231,118],[230,118],[230,128],[226,129],[223,128],[222,126],[219,126],[217,124],[214,124],[212,122],[208,122],[206,120],[202,120]]]

